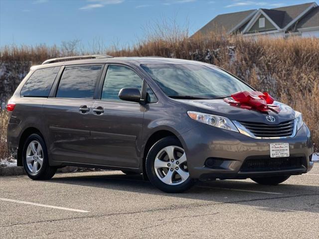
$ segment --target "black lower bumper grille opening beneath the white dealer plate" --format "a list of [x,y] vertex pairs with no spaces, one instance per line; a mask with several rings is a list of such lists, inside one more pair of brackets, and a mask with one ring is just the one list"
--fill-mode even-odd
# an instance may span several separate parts
[[285,169],[296,169],[303,167],[303,157],[287,158],[251,158],[246,159],[241,166],[241,172],[252,171],[278,171]]

